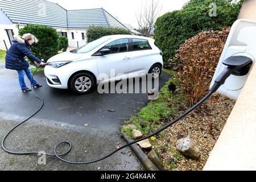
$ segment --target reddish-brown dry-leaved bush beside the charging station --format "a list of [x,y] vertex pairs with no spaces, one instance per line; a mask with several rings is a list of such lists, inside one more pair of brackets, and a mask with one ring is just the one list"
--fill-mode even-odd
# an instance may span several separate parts
[[209,92],[230,28],[204,31],[182,44],[174,57],[178,81],[188,104],[194,105]]

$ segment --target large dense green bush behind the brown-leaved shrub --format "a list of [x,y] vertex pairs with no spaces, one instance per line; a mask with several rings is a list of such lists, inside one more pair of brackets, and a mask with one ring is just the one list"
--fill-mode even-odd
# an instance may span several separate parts
[[[216,3],[217,16],[209,16],[210,3]],[[222,30],[232,26],[240,12],[242,2],[230,3],[228,0],[191,0],[181,10],[160,16],[155,23],[155,40],[163,51],[164,65],[172,59],[176,50],[185,40],[201,31]]]

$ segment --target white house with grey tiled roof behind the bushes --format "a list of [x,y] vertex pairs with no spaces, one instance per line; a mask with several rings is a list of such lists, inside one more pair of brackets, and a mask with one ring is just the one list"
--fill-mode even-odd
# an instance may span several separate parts
[[[86,43],[90,26],[126,28],[103,8],[65,10],[45,0],[0,0],[0,40],[9,48],[14,34],[26,24],[44,24],[56,28],[59,36],[69,39],[69,46]],[[5,49],[1,44],[0,49]]]

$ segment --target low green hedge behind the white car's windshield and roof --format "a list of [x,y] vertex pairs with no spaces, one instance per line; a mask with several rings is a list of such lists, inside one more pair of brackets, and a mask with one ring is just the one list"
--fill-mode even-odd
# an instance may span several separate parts
[[131,35],[131,31],[124,28],[108,28],[108,27],[96,27],[91,26],[87,31],[87,41],[92,42],[93,40],[97,40],[102,36],[108,35]]

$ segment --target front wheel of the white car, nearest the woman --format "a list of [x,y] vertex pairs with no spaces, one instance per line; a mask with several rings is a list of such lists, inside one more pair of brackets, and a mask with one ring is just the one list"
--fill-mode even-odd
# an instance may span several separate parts
[[72,77],[69,88],[76,94],[87,94],[96,86],[96,80],[89,73],[79,73]]

